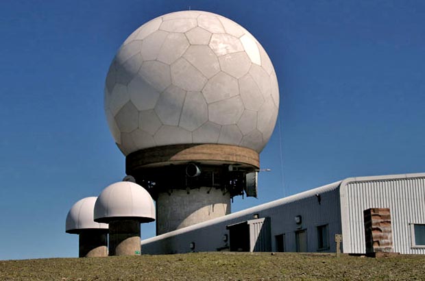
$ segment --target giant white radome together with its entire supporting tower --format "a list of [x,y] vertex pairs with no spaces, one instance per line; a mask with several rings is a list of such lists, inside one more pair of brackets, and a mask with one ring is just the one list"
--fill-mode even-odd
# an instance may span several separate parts
[[256,196],[247,179],[260,167],[278,108],[266,51],[210,12],[145,23],[106,77],[108,124],[127,175],[156,200],[157,234],[227,215],[234,196]]

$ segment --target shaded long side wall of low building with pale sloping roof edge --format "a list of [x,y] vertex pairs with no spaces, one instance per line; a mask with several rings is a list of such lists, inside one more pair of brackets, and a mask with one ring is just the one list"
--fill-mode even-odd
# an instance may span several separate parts
[[[270,217],[272,251],[276,251],[275,236],[285,234],[285,251],[295,252],[295,232],[306,230],[308,252],[317,252],[317,226],[327,224],[330,247],[323,252],[335,252],[333,237],[341,233],[340,183],[321,186],[298,195],[146,239],[142,241],[142,253],[191,252],[191,243],[195,243],[195,249],[193,249],[195,252],[214,252],[224,249],[228,246],[228,242],[223,241],[223,236],[229,235],[226,225],[250,220],[256,214],[260,218]],[[302,217],[301,224],[295,223],[296,216]]]

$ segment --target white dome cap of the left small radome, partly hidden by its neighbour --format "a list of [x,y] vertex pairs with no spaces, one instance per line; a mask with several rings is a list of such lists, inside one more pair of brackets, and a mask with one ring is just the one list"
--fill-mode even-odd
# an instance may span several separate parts
[[66,232],[79,234],[81,230],[99,229],[108,231],[106,223],[97,223],[93,220],[93,209],[97,197],[86,197],[77,201],[66,216]]

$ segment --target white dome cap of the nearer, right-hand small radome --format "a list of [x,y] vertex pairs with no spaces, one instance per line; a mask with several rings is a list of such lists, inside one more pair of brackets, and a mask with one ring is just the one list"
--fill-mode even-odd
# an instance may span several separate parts
[[107,223],[114,219],[137,219],[141,223],[154,221],[154,200],[145,188],[134,182],[111,184],[96,200],[95,221]]

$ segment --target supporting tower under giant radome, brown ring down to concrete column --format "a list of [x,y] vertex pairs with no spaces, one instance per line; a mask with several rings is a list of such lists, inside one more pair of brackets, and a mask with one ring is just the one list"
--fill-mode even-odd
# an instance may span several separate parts
[[[187,173],[188,164],[200,174]],[[243,194],[245,175],[259,166],[256,151],[234,145],[167,145],[125,158],[127,175],[156,200],[157,235],[230,214],[230,199]]]

